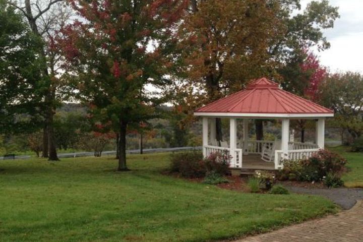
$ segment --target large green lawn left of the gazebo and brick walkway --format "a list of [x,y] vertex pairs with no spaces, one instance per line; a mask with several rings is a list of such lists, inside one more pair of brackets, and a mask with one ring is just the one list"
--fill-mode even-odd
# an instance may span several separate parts
[[0,160],[0,241],[206,241],[335,212],[315,196],[244,194],[161,175],[168,154]]

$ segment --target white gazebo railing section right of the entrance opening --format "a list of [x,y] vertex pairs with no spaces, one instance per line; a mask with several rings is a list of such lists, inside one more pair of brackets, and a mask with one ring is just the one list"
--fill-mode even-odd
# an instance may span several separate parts
[[301,150],[289,150],[287,156],[283,157],[282,150],[275,150],[275,169],[283,168],[284,160],[301,160],[311,157],[315,152],[318,152],[319,148],[315,149],[301,149]]

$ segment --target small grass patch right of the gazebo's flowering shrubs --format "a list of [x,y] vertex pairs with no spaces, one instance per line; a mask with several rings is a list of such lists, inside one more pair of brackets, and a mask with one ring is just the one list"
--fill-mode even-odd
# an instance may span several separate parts
[[344,186],[348,188],[363,188],[363,153],[349,152],[349,147],[328,147],[329,150],[340,153],[347,159],[348,172],[343,174]]

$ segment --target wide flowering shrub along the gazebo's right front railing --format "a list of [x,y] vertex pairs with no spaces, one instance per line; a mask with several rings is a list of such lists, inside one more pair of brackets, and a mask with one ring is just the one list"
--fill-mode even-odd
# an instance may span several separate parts
[[284,161],[284,168],[279,172],[281,180],[322,181],[328,173],[340,178],[346,160],[339,154],[319,150],[308,159]]

